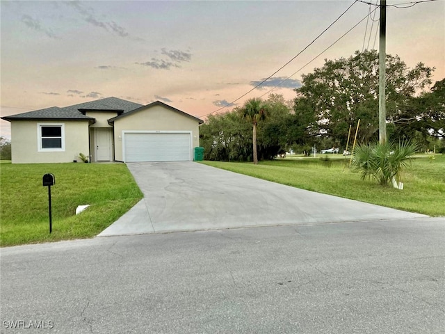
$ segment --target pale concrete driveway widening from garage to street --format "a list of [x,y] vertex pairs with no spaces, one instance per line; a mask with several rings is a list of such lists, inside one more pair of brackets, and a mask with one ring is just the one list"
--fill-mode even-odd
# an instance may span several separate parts
[[99,236],[425,217],[195,162],[127,164],[144,198]]

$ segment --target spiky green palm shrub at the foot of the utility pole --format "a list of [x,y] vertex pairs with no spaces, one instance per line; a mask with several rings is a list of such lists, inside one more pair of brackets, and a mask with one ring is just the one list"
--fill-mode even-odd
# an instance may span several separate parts
[[390,181],[400,184],[402,170],[410,166],[416,150],[417,145],[410,141],[359,145],[354,151],[353,166],[362,180],[373,177],[382,186]]

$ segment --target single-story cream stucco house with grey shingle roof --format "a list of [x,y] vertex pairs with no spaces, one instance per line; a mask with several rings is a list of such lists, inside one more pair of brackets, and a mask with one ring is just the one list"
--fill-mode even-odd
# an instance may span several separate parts
[[117,97],[4,116],[13,164],[80,161],[193,161],[200,118],[163,102]]

